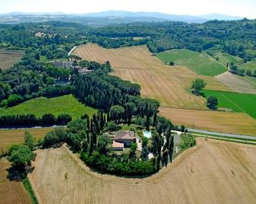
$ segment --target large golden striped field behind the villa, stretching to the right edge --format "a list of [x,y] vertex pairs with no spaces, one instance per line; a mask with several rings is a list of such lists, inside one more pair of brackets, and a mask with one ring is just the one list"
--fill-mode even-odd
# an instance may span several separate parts
[[104,49],[96,44],[80,46],[73,52],[83,59],[97,62],[109,60],[116,75],[141,85],[141,96],[160,101],[160,114],[173,123],[216,132],[254,135],[256,120],[245,113],[213,112],[206,100],[190,94],[190,84],[203,78],[207,90],[232,91],[214,77],[197,75],[183,66],[164,65],[152,56],[146,46]]

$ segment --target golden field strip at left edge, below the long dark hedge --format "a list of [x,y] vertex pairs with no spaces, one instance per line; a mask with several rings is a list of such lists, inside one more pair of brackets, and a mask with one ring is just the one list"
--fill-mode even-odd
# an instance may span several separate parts
[[[41,139],[53,128],[29,128],[27,129],[36,139]],[[0,150],[6,151],[12,144],[24,142],[25,129],[0,129]]]

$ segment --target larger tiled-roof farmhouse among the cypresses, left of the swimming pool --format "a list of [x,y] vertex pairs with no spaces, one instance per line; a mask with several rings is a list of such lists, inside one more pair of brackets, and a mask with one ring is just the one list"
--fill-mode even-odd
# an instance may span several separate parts
[[136,142],[134,131],[120,131],[115,135],[113,140],[123,143],[125,148],[130,147],[132,142]]

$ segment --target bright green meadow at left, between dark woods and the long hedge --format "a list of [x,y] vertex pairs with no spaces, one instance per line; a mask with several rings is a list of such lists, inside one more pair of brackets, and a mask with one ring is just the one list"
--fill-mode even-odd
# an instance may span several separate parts
[[38,97],[15,107],[0,109],[0,116],[28,113],[36,116],[43,116],[44,113],[53,113],[54,116],[58,116],[60,113],[69,113],[73,119],[76,119],[84,113],[92,116],[96,110],[79,103],[72,95],[53,98]]

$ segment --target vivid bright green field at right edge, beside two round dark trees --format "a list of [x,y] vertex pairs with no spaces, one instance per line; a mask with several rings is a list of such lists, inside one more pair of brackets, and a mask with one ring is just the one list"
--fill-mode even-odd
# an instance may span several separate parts
[[238,113],[248,113],[256,119],[256,94],[241,94],[224,91],[204,90],[206,97],[217,97],[219,107],[229,108]]

